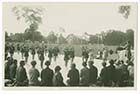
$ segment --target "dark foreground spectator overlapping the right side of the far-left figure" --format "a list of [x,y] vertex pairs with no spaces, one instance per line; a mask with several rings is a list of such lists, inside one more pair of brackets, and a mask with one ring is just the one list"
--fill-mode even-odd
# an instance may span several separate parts
[[17,60],[16,59],[13,60],[13,63],[10,65],[9,71],[10,71],[10,79],[12,81],[14,81],[16,78],[16,71],[17,71]]

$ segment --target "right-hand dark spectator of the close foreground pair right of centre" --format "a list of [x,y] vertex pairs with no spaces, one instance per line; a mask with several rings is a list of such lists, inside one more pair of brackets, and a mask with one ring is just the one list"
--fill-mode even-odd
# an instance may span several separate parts
[[97,82],[97,76],[98,76],[98,70],[97,68],[93,65],[93,61],[89,61],[89,83],[90,85],[96,84]]

